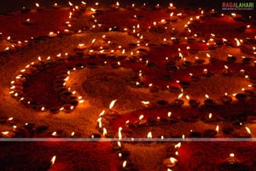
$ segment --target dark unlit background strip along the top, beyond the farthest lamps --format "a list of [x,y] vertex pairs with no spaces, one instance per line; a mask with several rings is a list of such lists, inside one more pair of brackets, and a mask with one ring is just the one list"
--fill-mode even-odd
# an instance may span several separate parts
[[[68,1],[71,1],[73,4],[80,4],[81,0],[0,0],[0,11],[1,13],[10,12],[13,10],[20,10],[23,6],[29,8],[35,8],[35,3],[39,3],[40,6],[50,7],[50,5],[54,3],[58,3],[61,6],[68,6]],[[94,4],[96,2],[104,5],[116,3],[117,0],[84,0],[85,3]],[[255,1],[255,0],[254,0]],[[256,17],[255,7],[253,10],[242,10],[242,11],[223,11],[222,3],[225,2],[253,2],[250,0],[237,1],[237,0],[137,0],[137,1],[127,1],[127,0],[119,0],[120,6],[125,7],[127,4],[136,3],[137,6],[143,3],[147,3],[149,6],[154,6],[157,3],[160,5],[167,6],[169,3],[174,3],[177,7],[189,8],[189,9],[215,9],[220,13],[230,14],[231,12],[236,12],[236,14],[243,15],[252,15]],[[254,6],[256,2],[254,2]]]

